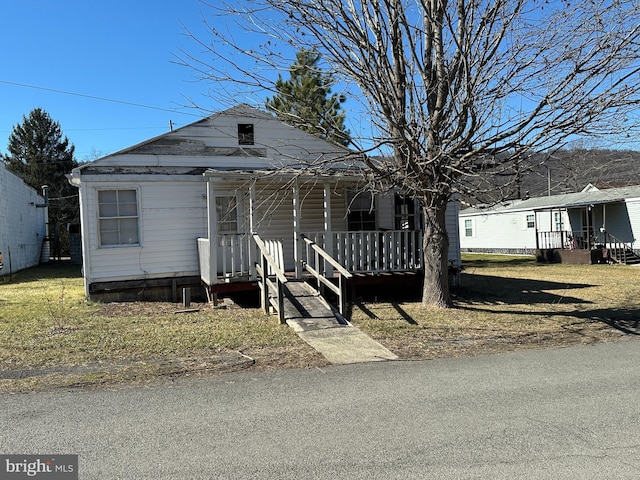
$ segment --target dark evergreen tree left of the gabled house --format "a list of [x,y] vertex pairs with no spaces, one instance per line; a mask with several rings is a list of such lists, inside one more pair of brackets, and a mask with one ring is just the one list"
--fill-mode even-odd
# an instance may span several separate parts
[[[64,235],[67,223],[79,221],[78,191],[65,175],[78,166],[75,147],[62,136],[60,124],[41,108],[22,117],[13,127],[7,155],[0,155],[7,170],[40,191],[49,186],[49,230]],[[66,244],[66,242],[63,242]]]

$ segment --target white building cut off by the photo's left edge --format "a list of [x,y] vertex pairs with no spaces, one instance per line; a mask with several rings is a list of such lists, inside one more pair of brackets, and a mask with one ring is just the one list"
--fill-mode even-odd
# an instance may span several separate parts
[[45,199],[0,162],[0,276],[38,265],[46,235]]

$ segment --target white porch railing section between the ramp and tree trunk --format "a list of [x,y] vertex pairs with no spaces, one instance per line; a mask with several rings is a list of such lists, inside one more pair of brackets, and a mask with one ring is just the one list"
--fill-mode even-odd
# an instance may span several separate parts
[[[422,268],[422,232],[388,230],[307,233],[307,238],[326,250],[350,272],[415,271]],[[308,250],[308,249],[307,249]],[[306,259],[310,252],[306,252]],[[303,260],[306,260],[303,258]]]

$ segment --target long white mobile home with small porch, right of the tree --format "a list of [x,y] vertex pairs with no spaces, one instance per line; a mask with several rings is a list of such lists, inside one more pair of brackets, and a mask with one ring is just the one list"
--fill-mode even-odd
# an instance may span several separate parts
[[459,228],[463,252],[631,263],[639,253],[640,186],[599,190],[588,185],[577,193],[468,208],[460,212]]

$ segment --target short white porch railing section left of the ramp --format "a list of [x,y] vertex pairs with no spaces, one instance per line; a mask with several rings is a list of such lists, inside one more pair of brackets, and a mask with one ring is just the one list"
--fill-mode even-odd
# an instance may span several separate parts
[[[209,274],[209,239],[198,238],[198,258],[200,278],[207,285],[221,281],[245,279],[251,276],[252,252],[249,246],[249,235],[233,233],[218,235],[216,270],[217,277],[211,279]],[[211,281],[213,280],[213,282]]]

